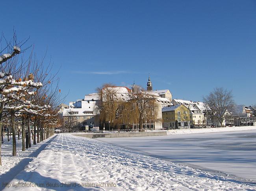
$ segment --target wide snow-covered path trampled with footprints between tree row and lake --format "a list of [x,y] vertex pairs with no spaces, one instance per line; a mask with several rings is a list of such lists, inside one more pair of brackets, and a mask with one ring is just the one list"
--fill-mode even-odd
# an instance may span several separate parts
[[[43,151],[10,182],[41,187],[19,190],[256,190],[235,180],[174,164],[95,139],[57,135]],[[116,187],[79,187],[86,183],[114,183]],[[63,187],[47,186],[56,183]],[[70,183],[73,183],[72,185]],[[76,186],[76,187],[74,187]],[[17,190],[9,187],[6,190]]]

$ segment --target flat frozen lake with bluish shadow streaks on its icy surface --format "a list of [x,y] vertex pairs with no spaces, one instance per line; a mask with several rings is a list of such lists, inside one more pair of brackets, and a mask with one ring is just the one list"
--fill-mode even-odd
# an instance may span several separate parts
[[256,130],[97,140],[230,178],[236,176],[256,182]]

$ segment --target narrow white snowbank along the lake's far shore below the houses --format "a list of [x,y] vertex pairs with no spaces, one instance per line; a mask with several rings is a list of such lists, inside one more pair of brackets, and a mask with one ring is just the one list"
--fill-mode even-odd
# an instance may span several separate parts
[[218,127],[218,128],[206,128],[206,129],[173,129],[173,130],[168,130],[167,135],[214,133],[214,132],[226,132],[226,131],[247,131],[247,130],[256,130],[256,126]]

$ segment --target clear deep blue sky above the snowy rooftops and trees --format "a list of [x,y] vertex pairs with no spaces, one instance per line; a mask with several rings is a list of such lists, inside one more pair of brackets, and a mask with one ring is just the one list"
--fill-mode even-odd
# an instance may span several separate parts
[[[256,104],[256,1],[14,1],[0,31],[30,36],[54,61],[66,103],[112,82],[135,80],[202,100],[232,89],[237,104]],[[7,6],[8,7],[8,6]]]

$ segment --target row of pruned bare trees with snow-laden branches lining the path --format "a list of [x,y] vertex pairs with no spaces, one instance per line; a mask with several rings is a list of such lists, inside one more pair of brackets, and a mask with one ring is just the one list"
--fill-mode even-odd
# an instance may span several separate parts
[[[57,122],[56,108],[61,101],[58,78],[51,74],[51,62],[44,64],[45,56],[38,60],[32,46],[24,47],[27,42],[28,39],[18,41],[15,32],[10,40],[4,35],[0,38],[0,165],[5,131],[8,140],[12,133],[16,156],[17,134],[18,139],[22,137],[25,151],[32,146],[31,140],[37,144],[52,136]],[[25,51],[29,49],[32,51],[26,58]]]

